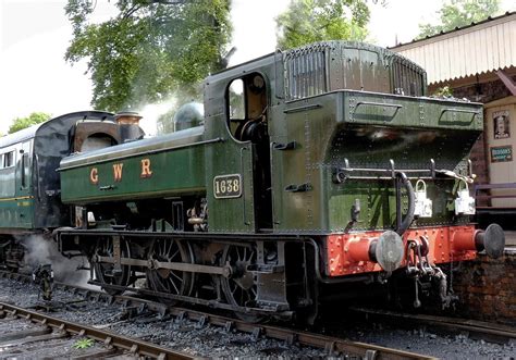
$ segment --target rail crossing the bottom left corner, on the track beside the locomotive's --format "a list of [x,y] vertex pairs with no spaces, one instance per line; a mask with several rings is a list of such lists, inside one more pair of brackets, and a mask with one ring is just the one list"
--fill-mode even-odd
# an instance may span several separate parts
[[32,322],[54,327],[73,335],[82,335],[88,338],[101,342],[107,346],[113,346],[118,349],[126,350],[145,357],[156,359],[195,359],[195,357],[157,346],[151,343],[143,342],[136,338],[130,338],[111,332],[90,327],[84,324],[77,324],[66,320],[49,316],[47,314],[23,309],[10,303],[0,302],[0,311],[16,318],[24,318]]

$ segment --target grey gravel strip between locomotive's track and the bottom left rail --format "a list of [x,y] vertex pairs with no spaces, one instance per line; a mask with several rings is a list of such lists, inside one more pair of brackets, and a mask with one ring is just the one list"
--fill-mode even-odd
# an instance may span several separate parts
[[[15,281],[0,278],[0,301],[23,308],[42,305],[38,300],[38,287]],[[253,340],[251,335],[226,333],[222,327],[202,326],[197,322],[183,320],[158,319],[153,314],[142,314],[127,319],[127,312],[119,306],[81,301],[81,296],[57,289],[52,294],[51,315],[63,320],[81,322],[113,333],[142,338],[204,358],[323,358],[325,352],[320,349],[288,346],[283,342],[259,338]]]

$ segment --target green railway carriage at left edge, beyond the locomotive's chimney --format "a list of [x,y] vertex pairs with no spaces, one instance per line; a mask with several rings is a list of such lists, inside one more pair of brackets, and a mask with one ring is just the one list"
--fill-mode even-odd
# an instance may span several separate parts
[[70,226],[71,211],[61,202],[56,170],[74,151],[121,141],[113,114],[74,112],[0,138],[0,259],[4,266],[23,263],[23,243]]

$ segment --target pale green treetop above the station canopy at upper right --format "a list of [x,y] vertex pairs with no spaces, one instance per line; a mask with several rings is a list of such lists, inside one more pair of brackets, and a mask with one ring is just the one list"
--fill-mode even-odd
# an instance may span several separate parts
[[500,0],[447,0],[438,11],[440,24],[419,24],[418,39],[488,18],[500,11]]

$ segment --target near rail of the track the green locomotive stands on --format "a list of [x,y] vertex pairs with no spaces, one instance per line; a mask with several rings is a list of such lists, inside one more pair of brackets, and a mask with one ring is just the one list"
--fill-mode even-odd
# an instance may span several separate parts
[[[9,272],[1,272],[0,277],[10,277],[14,280],[29,281],[29,276],[20,273],[12,274]],[[226,331],[236,330],[242,333],[251,334],[253,338],[257,339],[260,336],[273,338],[277,340],[284,340],[287,344],[298,343],[303,346],[319,348],[327,350],[330,355],[344,353],[359,356],[365,359],[392,359],[392,360],[407,360],[407,359],[434,359],[433,357],[408,352],[398,349],[391,349],[378,345],[366,344],[360,342],[351,342],[337,337],[331,337],[309,332],[299,331],[296,328],[279,327],[268,324],[254,324],[242,320],[228,318],[220,314],[207,313],[188,308],[168,307],[163,303],[156,302],[148,299],[136,298],[132,296],[111,296],[100,290],[87,289],[69,284],[54,283],[54,287],[60,287],[67,291],[75,294],[82,293],[87,299],[94,301],[116,302],[125,307],[134,307],[138,311],[156,311],[161,315],[170,314],[177,321],[191,320],[198,322],[199,325],[211,324],[214,326],[224,327]]]

